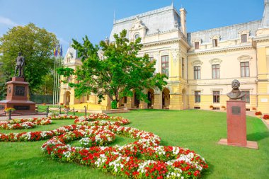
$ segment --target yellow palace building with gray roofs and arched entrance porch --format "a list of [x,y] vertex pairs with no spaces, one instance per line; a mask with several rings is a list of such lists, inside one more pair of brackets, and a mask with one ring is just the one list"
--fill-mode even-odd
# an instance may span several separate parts
[[[238,79],[246,94],[246,109],[269,113],[269,0],[264,1],[260,21],[188,33],[186,15],[184,8],[178,11],[172,4],[114,21],[110,42],[114,40],[113,34],[123,29],[130,40],[141,37],[143,48],[139,54],[147,53],[156,59],[156,73],[168,76],[163,91],[144,90],[149,104],[137,100],[134,92],[133,97],[122,98],[120,106],[224,110],[231,81]],[[64,66],[75,69],[79,65],[76,50],[69,47]],[[89,110],[110,108],[108,98],[98,103],[94,94],[74,98],[74,89],[63,83],[59,103],[75,108],[87,105]]]

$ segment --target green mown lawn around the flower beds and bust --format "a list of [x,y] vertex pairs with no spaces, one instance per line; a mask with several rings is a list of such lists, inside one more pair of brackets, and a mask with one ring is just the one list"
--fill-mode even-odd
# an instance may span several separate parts
[[[219,139],[227,138],[224,112],[133,110],[115,115],[130,119],[130,127],[159,135],[162,145],[182,146],[203,156],[209,169],[202,178],[269,178],[269,131],[256,117],[247,117],[247,139],[258,142],[258,150],[217,144]],[[55,121],[31,131],[71,123],[72,120]],[[115,144],[127,142],[132,140],[120,137]],[[0,178],[120,178],[76,163],[50,160],[40,150],[43,143],[1,142]]]

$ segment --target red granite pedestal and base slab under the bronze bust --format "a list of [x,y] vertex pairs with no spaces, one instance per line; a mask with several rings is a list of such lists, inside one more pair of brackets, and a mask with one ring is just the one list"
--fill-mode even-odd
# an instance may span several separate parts
[[220,139],[218,144],[258,149],[257,142],[251,142],[246,140],[245,101],[227,101],[227,139]]

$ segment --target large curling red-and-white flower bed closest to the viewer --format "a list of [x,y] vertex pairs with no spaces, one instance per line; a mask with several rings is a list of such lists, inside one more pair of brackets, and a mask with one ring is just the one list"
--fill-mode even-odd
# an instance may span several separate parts
[[[80,139],[86,133],[74,130],[45,142],[42,151],[59,161],[74,161],[129,178],[198,178],[202,170],[207,168],[205,159],[198,154],[181,147],[159,146],[160,137],[150,132],[116,125],[88,129],[109,129],[138,141],[125,146],[69,146],[67,142]],[[137,158],[138,155],[142,155],[142,159]]]

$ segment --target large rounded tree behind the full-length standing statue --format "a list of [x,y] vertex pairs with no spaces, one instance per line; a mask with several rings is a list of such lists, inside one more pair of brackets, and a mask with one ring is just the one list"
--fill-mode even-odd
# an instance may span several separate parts
[[[0,62],[2,67],[0,74],[4,83],[11,80],[15,71],[15,59],[18,52],[25,57],[23,70],[25,81],[28,81],[31,92],[38,92],[40,85],[54,67],[52,58],[53,49],[57,44],[57,37],[47,32],[44,28],[38,28],[33,23],[25,26],[16,26],[8,30],[0,37]],[[3,82],[0,84],[0,93],[5,93]]]

